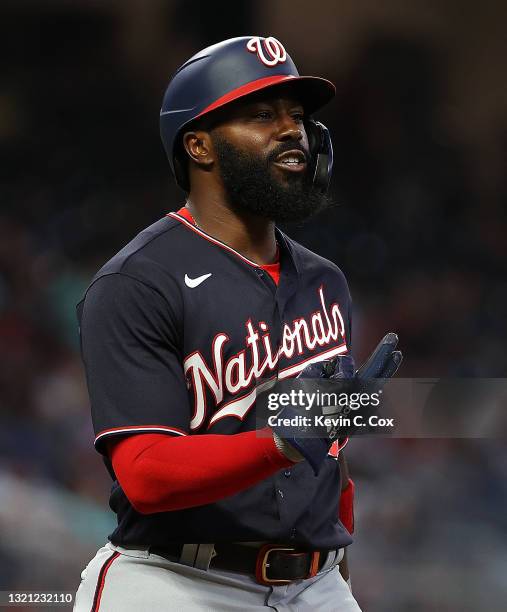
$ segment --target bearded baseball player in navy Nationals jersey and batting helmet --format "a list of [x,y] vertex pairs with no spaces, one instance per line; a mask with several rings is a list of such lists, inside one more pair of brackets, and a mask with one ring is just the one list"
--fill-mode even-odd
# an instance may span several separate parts
[[[351,363],[342,272],[276,227],[326,205],[332,146],[311,115],[334,94],[258,36],[204,49],[169,83],[161,136],[186,203],[78,305],[118,519],[82,572],[78,612],[359,610],[337,442],[258,430],[254,410],[259,379]],[[375,375],[394,373],[394,346]]]

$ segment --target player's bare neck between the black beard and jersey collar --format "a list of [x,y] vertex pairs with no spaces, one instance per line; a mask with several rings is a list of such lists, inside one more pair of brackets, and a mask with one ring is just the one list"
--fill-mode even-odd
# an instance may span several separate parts
[[201,229],[244,257],[258,264],[275,261],[273,221],[233,210],[225,198],[209,192],[206,197],[200,197],[192,190],[187,198],[187,208]]

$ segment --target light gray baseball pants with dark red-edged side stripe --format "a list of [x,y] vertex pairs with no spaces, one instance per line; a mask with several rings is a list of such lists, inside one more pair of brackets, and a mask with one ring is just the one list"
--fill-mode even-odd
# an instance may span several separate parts
[[108,542],[81,574],[74,612],[361,612],[330,553],[313,578],[264,586],[239,572],[197,569]]

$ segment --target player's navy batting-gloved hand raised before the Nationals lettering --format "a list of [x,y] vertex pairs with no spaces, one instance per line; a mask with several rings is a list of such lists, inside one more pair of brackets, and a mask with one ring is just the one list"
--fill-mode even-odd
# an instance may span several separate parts
[[[398,336],[389,333],[377,345],[367,361],[354,373],[354,360],[351,355],[341,355],[333,360],[320,361],[308,365],[298,378],[327,378],[330,380],[355,379],[362,382],[375,380],[375,390],[380,390],[387,380],[394,376],[403,359],[401,351],[397,351]],[[351,382],[353,382],[351,380]],[[369,387],[371,391],[371,385]],[[326,416],[338,416],[343,413],[339,406],[329,406],[323,409]],[[291,406],[286,406],[280,413],[282,417],[293,417],[299,413]],[[285,452],[289,459],[302,457],[310,463],[315,475],[328,454],[331,444],[344,432],[339,427],[328,428],[327,436],[322,438],[301,437],[306,431],[303,427],[276,425],[273,428],[275,442],[278,448]],[[353,430],[347,428],[347,434]]]

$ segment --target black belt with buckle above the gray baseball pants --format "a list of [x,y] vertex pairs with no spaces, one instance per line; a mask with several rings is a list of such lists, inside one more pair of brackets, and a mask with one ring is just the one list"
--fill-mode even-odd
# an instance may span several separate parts
[[[178,563],[183,544],[164,548],[150,547],[150,552]],[[261,547],[235,542],[217,542],[216,556],[210,568],[255,575],[259,584],[288,584],[312,578],[327,561],[329,550],[308,552],[286,544],[265,544]]]

